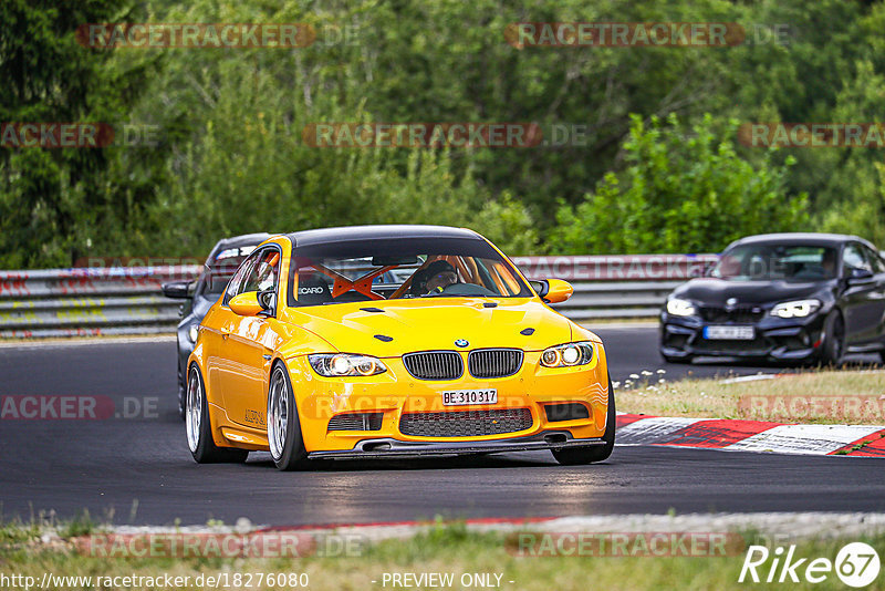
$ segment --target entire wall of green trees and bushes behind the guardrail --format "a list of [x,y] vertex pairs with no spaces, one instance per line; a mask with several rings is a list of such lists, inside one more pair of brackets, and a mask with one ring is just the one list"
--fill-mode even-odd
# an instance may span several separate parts
[[[885,240],[882,151],[747,148],[732,123],[879,121],[883,2],[63,4],[0,2],[0,122],[152,125],[159,143],[0,148],[0,268],[194,257],[227,235],[402,221],[468,226],[513,255],[710,251],[796,228]],[[145,21],[302,22],[319,37],[291,50],[75,41],[82,23]],[[511,23],[556,21],[737,22],[747,41],[506,42]],[[586,142],[308,146],[304,126],[327,122],[584,125]]]

